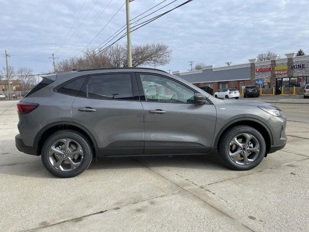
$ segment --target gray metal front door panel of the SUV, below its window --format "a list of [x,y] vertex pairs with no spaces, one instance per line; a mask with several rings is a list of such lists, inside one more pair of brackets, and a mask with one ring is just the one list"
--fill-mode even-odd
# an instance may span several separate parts
[[[208,152],[214,136],[216,109],[211,104],[142,102],[145,154]],[[164,114],[150,113],[163,110]]]

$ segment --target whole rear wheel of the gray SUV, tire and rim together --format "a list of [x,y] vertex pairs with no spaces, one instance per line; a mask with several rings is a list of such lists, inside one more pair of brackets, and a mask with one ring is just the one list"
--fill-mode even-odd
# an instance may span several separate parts
[[74,130],[62,130],[45,141],[41,158],[45,168],[61,178],[74,177],[91,163],[93,151],[88,138]]

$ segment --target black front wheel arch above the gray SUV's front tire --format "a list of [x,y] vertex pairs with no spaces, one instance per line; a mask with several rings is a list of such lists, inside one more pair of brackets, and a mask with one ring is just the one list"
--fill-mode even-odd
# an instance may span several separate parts
[[238,126],[238,125],[246,125],[246,126],[250,126],[258,130],[265,139],[266,151],[267,152],[269,151],[270,146],[273,145],[273,135],[271,131],[269,130],[269,128],[263,122],[255,118],[238,118],[238,119],[234,119],[231,122],[226,123],[225,126],[222,127],[220,131],[218,132],[218,134],[216,135],[216,138],[214,140],[214,147],[216,148],[218,147],[219,140],[221,139],[221,137],[224,135],[224,133],[228,129],[230,129],[233,126]]

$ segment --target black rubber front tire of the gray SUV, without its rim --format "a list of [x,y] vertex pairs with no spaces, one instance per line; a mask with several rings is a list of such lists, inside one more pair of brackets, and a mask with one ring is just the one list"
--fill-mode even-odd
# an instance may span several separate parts
[[[235,136],[242,134],[242,133],[248,133],[250,135],[253,135],[260,144],[260,152],[258,156],[256,157],[254,161],[246,165],[235,163],[234,161],[232,161],[232,159],[230,158],[228,154],[228,149],[229,149],[231,140]],[[225,165],[228,166],[229,168],[233,170],[238,170],[238,171],[250,170],[252,168],[255,168],[257,165],[259,165],[260,162],[263,160],[264,155],[266,153],[266,144],[265,144],[265,140],[263,136],[261,135],[261,133],[257,131],[255,128],[245,126],[245,125],[240,125],[240,126],[232,127],[228,131],[226,131],[225,135],[222,137],[221,141],[219,142],[218,153],[222,157]]]

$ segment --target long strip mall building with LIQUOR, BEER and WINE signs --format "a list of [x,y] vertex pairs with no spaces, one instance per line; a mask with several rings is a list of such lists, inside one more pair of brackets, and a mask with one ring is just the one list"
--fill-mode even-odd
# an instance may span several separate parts
[[249,63],[214,67],[202,67],[201,70],[181,72],[176,75],[198,87],[210,86],[217,92],[222,88],[237,88],[241,90],[249,84],[262,88],[262,94],[280,94],[282,87],[285,94],[302,94],[306,84],[309,84],[309,55],[295,56],[296,53],[285,54],[286,58],[278,55],[269,56],[269,60],[257,62],[249,59]]

